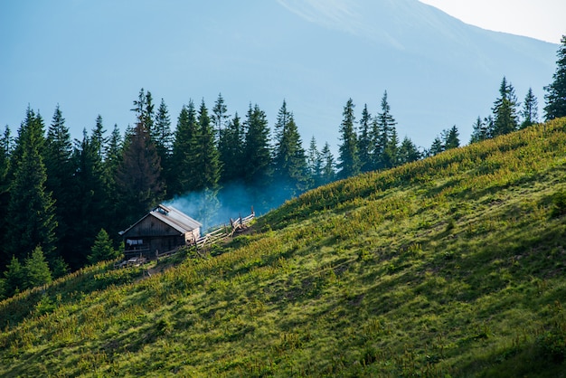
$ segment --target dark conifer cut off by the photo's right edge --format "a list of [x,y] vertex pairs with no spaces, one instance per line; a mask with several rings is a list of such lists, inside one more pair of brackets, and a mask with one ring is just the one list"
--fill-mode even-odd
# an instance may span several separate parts
[[562,35],[561,45],[557,52],[556,71],[552,75],[552,83],[544,87],[544,118],[566,117],[566,35]]

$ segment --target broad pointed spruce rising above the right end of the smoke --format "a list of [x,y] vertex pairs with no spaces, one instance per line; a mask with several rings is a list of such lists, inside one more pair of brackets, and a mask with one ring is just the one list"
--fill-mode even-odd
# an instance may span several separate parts
[[275,137],[274,175],[288,199],[307,189],[307,156],[293,113],[288,111],[285,100],[278,111]]

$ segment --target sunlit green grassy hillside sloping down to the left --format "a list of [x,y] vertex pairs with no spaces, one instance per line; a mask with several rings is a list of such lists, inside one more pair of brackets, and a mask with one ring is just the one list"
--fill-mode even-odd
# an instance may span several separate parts
[[561,119],[4,301],[0,375],[566,376],[565,245]]

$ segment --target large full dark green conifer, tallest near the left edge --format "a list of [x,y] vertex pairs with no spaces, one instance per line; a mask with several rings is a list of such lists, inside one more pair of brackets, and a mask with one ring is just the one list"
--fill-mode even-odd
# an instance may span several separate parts
[[24,258],[41,245],[48,260],[54,260],[57,220],[51,193],[45,188],[47,174],[40,154],[40,149],[44,149],[42,120],[33,115],[26,119],[28,122],[27,127],[21,128],[16,146],[22,157],[16,160],[18,163],[10,186],[5,253]]

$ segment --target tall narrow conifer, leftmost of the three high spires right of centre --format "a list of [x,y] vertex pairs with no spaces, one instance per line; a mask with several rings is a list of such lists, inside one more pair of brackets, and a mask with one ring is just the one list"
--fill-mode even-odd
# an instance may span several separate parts
[[354,128],[354,101],[348,99],[343,111],[343,120],[340,126],[338,175],[340,178],[351,177],[360,173],[360,156],[358,155],[358,140]]

